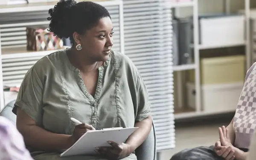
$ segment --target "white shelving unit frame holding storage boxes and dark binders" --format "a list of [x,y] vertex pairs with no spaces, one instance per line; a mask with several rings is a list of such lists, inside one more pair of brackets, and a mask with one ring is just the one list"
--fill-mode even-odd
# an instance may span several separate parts
[[[226,13],[230,13],[230,0],[225,0],[225,11]],[[202,99],[201,99],[201,73],[200,73],[200,51],[201,50],[207,50],[207,49],[219,49],[219,48],[228,48],[228,47],[239,47],[244,46],[245,47],[245,55],[246,55],[246,68],[248,69],[250,65],[252,64],[251,61],[251,52],[250,52],[250,0],[244,0],[245,4],[245,36],[246,39],[243,43],[229,43],[226,44],[220,44],[220,45],[202,45],[199,44],[199,17],[198,17],[198,0],[192,0],[191,2],[180,2],[180,3],[171,3],[169,4],[170,8],[172,9],[179,9],[181,7],[192,7],[193,8],[193,35],[194,35],[194,44],[190,45],[190,48],[194,51],[194,64],[182,64],[173,66],[173,70],[175,71],[175,74],[177,76],[177,79],[182,79],[182,72],[187,70],[195,70],[195,103],[196,108],[181,108],[180,106],[183,106],[183,99],[180,97],[183,96],[182,93],[180,93],[180,90],[182,89],[182,84],[177,83],[177,104],[179,108],[175,108],[175,119],[184,119],[184,118],[190,118],[190,117],[197,117],[197,116],[206,116],[206,115],[213,115],[218,113],[223,113],[221,111],[215,111],[215,112],[207,112],[204,111],[204,108],[202,108]],[[175,91],[176,92],[176,91]],[[235,108],[231,111],[227,112],[233,112],[235,111]]]

